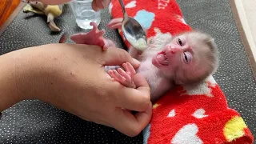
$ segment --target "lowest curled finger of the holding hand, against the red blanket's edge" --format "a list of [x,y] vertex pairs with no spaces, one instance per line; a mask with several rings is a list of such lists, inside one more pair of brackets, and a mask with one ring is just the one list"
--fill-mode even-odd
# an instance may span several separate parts
[[[152,104],[143,112],[131,114],[130,110],[118,108],[112,117],[112,126],[130,137],[137,136],[149,124],[152,117]],[[118,122],[117,122],[118,120]]]

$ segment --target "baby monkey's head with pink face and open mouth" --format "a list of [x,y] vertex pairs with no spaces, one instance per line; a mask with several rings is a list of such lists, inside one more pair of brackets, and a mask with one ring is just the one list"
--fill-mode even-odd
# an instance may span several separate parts
[[198,31],[175,36],[152,63],[175,84],[201,82],[218,68],[218,49],[208,34]]

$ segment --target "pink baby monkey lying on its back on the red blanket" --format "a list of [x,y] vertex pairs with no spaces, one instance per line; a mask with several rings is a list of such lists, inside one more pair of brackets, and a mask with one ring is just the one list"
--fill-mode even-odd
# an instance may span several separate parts
[[[113,19],[108,27],[121,29],[121,22],[122,19]],[[74,34],[71,39],[80,44],[102,46],[103,50],[115,46],[110,39],[103,38],[105,30],[98,30],[94,22],[90,25],[94,28],[89,33]],[[106,66],[106,71],[123,86],[132,88],[136,88],[132,81],[133,75],[142,74],[149,83],[152,102],[176,85],[202,82],[218,68],[218,49],[214,39],[198,31],[166,38],[162,46],[148,44],[144,51],[131,47],[130,54],[141,62],[137,70],[126,62],[122,68]]]

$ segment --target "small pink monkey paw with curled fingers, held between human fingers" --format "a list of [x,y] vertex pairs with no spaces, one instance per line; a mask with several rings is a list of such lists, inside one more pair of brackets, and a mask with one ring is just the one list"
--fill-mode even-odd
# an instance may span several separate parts
[[126,71],[122,70],[122,68],[118,68],[118,70],[109,70],[108,73],[110,74],[110,77],[120,82],[123,86],[136,88],[131,78],[134,74],[136,74],[134,67],[131,66],[129,62],[123,63],[122,66]]

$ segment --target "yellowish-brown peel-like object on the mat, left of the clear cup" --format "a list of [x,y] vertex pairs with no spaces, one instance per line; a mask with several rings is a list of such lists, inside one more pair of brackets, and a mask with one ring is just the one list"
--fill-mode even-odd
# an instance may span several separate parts
[[63,5],[46,5],[42,2],[26,2],[26,6],[23,8],[24,13],[32,12],[35,14],[44,14],[47,16],[47,23],[50,27],[50,30],[54,32],[59,32],[61,29],[56,26],[54,18],[59,17],[62,14]]

